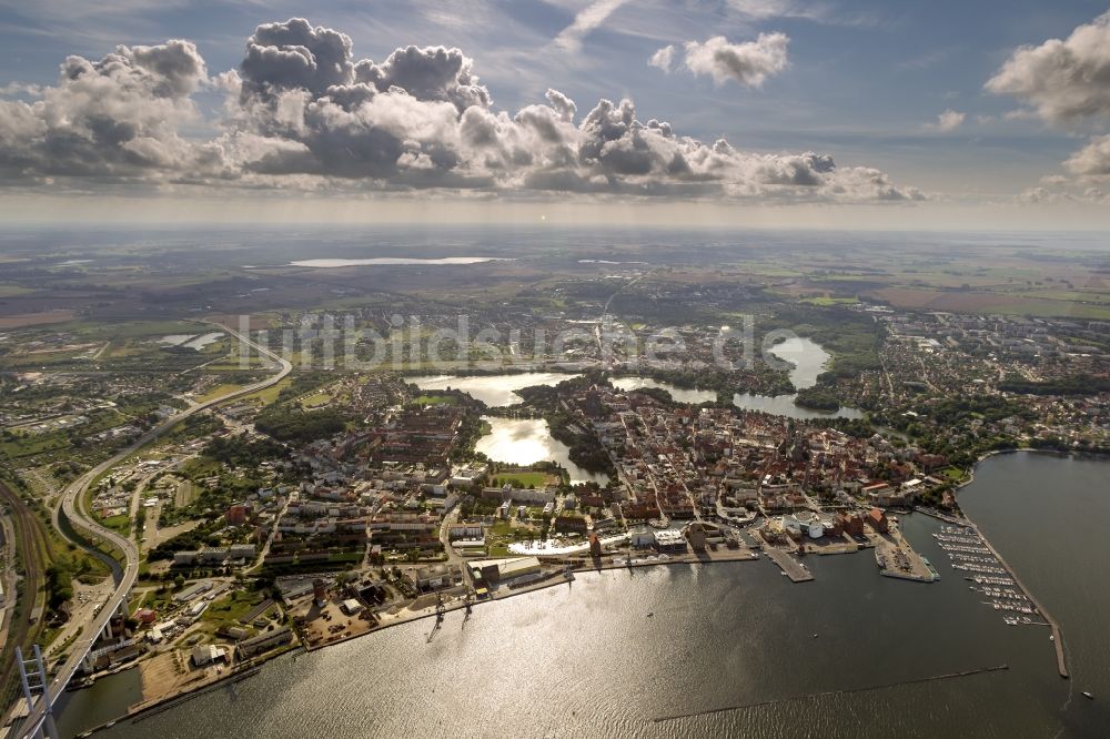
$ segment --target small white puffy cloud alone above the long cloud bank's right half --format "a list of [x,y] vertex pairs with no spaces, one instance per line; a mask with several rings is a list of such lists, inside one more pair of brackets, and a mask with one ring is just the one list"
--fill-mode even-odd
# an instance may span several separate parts
[[759,88],[788,64],[786,49],[790,39],[785,33],[760,33],[755,41],[729,43],[715,36],[704,43],[686,43],[686,68],[695,74],[707,74],[717,84],[733,80],[744,87]]

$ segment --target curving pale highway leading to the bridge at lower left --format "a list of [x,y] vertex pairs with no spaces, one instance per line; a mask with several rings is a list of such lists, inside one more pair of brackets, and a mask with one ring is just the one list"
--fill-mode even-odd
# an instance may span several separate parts
[[[128,594],[131,591],[131,588],[134,586],[135,579],[139,576],[139,547],[129,537],[121,536],[115,532],[101,526],[92,518],[85,517],[84,513],[81,510],[82,498],[84,497],[84,493],[89,489],[89,486],[92,484],[92,480],[97,479],[100,475],[127,459],[147,444],[155,441],[160,435],[170,431],[185,418],[200,413],[201,411],[205,411],[206,408],[211,408],[214,405],[219,405],[220,403],[224,403],[242,395],[250,395],[251,393],[256,393],[260,389],[270,387],[271,385],[281,382],[282,378],[284,378],[293,370],[293,365],[289,361],[278,356],[269,348],[254,343],[249,336],[244,336],[222,324],[216,325],[219,325],[223,331],[226,331],[233,337],[244,342],[251,348],[258,351],[261,355],[266,356],[279,364],[281,370],[278,374],[268,377],[266,379],[254,383],[253,385],[240,387],[231,393],[191,406],[181,413],[171,416],[158,426],[148,431],[131,446],[115,454],[111,458],[105,459],[78,479],[73,480],[62,492],[62,512],[65,514],[65,517],[70,520],[72,526],[90,536],[93,540],[107,540],[117,549],[121,550],[124,556],[124,566],[120,571],[120,579],[115,590],[112,593],[112,596],[107,603],[103,604],[93,621],[85,626],[85,628],[81,631],[81,636],[79,636],[73,642],[70,648],[69,658],[63,664],[57,666],[54,677],[49,682],[49,690],[52,698],[57,697],[62,690],[64,690],[65,686],[73,678],[73,674],[77,671],[78,667],[81,666],[85,655],[92,648],[92,645],[95,644],[100,632],[111,620],[112,615],[120,608],[121,604],[127,601]],[[62,535],[64,536],[64,532],[62,532]],[[47,708],[46,701],[43,701],[41,697],[38,698],[34,702],[33,710],[28,715],[27,719],[23,721],[22,728],[16,736],[36,736],[47,721]]]

